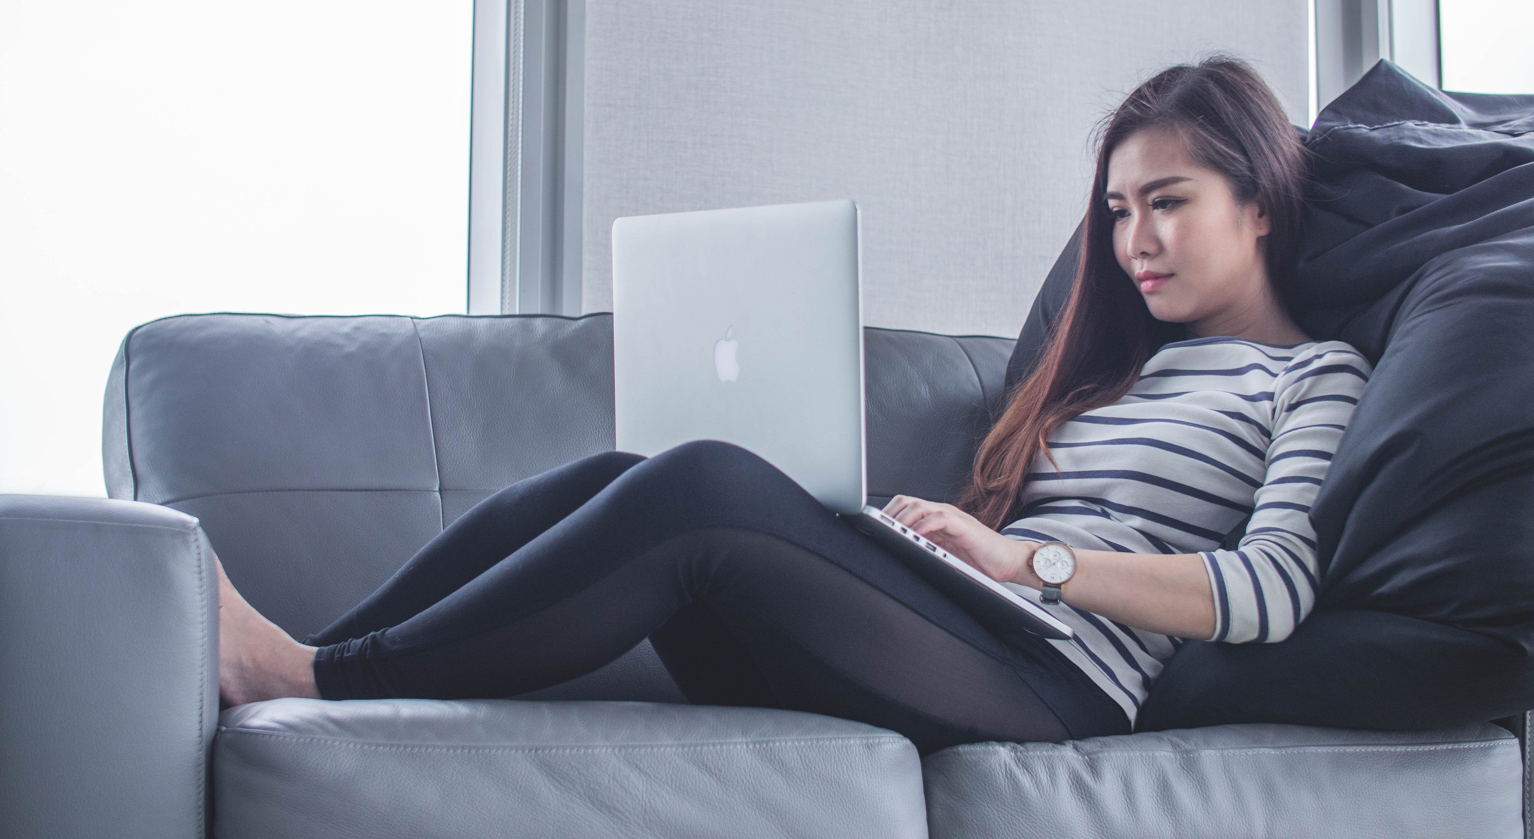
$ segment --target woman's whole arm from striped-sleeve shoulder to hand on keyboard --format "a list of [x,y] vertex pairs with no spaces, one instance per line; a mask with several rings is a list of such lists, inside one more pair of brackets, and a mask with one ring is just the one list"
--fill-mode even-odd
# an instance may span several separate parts
[[[1233,551],[1075,551],[1075,575],[1060,598],[1163,635],[1230,643],[1287,638],[1316,597],[1310,505],[1371,373],[1351,348],[1322,347],[1298,356],[1275,382],[1267,475]],[[1008,538],[951,505],[907,495],[896,495],[885,512],[994,580],[1043,586],[1032,569],[1037,543]]]

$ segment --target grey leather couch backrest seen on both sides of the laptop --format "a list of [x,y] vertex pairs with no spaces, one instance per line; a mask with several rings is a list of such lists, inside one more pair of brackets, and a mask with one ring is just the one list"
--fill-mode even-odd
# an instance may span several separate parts
[[[870,495],[951,498],[1012,342],[865,345]],[[167,318],[124,339],[103,425],[109,494],[196,515],[298,637],[485,495],[612,445],[607,314]]]

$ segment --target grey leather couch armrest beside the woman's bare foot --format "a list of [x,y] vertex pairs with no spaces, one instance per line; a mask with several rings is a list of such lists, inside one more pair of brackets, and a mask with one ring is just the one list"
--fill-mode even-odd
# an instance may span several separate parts
[[0,495],[0,836],[206,834],[215,578],[173,509]]

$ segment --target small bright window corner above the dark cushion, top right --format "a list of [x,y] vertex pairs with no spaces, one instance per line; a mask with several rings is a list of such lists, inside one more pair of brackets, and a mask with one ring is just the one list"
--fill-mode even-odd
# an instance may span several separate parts
[[1443,89],[1534,94],[1531,37],[1531,0],[1439,0]]

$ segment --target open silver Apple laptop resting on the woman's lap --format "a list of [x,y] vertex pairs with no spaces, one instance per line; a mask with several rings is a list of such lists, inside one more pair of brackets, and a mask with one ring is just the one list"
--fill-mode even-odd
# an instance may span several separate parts
[[1071,627],[867,506],[858,207],[612,224],[617,448],[724,440],[782,469],[1002,637]]

